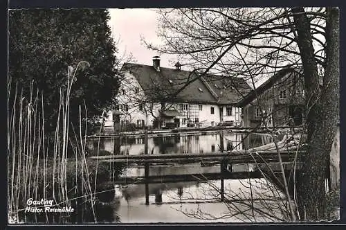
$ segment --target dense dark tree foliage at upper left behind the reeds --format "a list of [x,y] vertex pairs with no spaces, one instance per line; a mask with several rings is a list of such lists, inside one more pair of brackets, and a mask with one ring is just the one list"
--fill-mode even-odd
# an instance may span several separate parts
[[[43,91],[45,129],[52,132],[65,91],[68,71],[75,73],[70,121],[78,125],[79,105],[88,118],[98,118],[118,89],[116,47],[107,25],[107,10],[11,10],[9,12],[9,77],[28,98],[30,83]],[[73,68],[72,68],[73,67]],[[12,92],[15,90],[11,90]],[[13,96],[10,94],[10,100]],[[42,99],[41,96],[39,98]],[[12,103],[9,103],[12,105]],[[86,116],[82,109],[82,116]],[[95,117],[94,117],[95,116]]]

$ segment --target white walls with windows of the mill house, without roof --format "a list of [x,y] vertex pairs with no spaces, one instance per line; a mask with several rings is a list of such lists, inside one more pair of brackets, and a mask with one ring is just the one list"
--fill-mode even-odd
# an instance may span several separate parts
[[[159,116],[161,103],[149,103],[144,94],[142,87],[131,75],[126,72],[124,79],[120,83],[118,90],[118,108],[113,111],[107,112],[109,115],[106,119],[104,126],[113,127],[116,121],[116,116],[119,116],[118,121],[120,125],[133,123],[137,127],[154,125],[155,118]],[[220,111],[222,109],[222,114]],[[212,105],[212,104],[197,104],[197,103],[166,103],[163,111],[178,112],[178,116],[162,116],[161,127],[210,127],[216,126],[219,123],[233,122],[233,124],[240,124],[241,109],[226,105]],[[222,116],[222,117],[221,117]],[[178,120],[179,119],[179,120]],[[170,124],[170,125],[167,125]]]

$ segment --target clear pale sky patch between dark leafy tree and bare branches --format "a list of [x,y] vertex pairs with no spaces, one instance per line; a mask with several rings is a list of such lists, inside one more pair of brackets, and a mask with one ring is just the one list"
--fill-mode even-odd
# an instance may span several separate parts
[[[133,55],[138,64],[152,65],[152,57],[158,55],[156,51],[149,50],[140,41],[140,36],[148,42],[161,44],[161,39],[156,36],[156,12],[154,9],[109,9],[111,19],[109,27],[113,38],[119,40],[118,56]],[[176,57],[161,55],[161,67],[174,68],[170,61],[175,63]]]

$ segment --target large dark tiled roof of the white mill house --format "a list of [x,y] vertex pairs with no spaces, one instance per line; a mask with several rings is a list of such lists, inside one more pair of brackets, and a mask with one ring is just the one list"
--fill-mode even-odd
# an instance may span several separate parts
[[[235,88],[215,88],[216,80],[219,85],[229,86],[233,82],[235,87],[244,87],[248,91],[251,89],[242,78],[226,78],[210,74],[199,78],[197,73],[191,71],[160,67],[158,72],[154,67],[144,64],[126,63],[122,66],[122,71],[129,71],[143,88],[146,96],[153,100],[166,98],[190,103],[233,104],[237,103],[242,96]],[[185,89],[175,95],[188,82],[190,83]]]

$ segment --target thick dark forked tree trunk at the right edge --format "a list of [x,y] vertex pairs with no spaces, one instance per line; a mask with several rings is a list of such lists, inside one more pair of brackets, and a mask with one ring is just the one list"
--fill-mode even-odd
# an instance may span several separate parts
[[[309,19],[303,8],[293,8],[294,24],[304,69],[309,148],[302,159],[298,182],[300,216],[322,218],[325,211],[325,175],[338,120],[338,11],[329,10],[327,19],[327,63],[320,94],[316,61],[313,57]],[[338,99],[338,98],[337,98]]]

